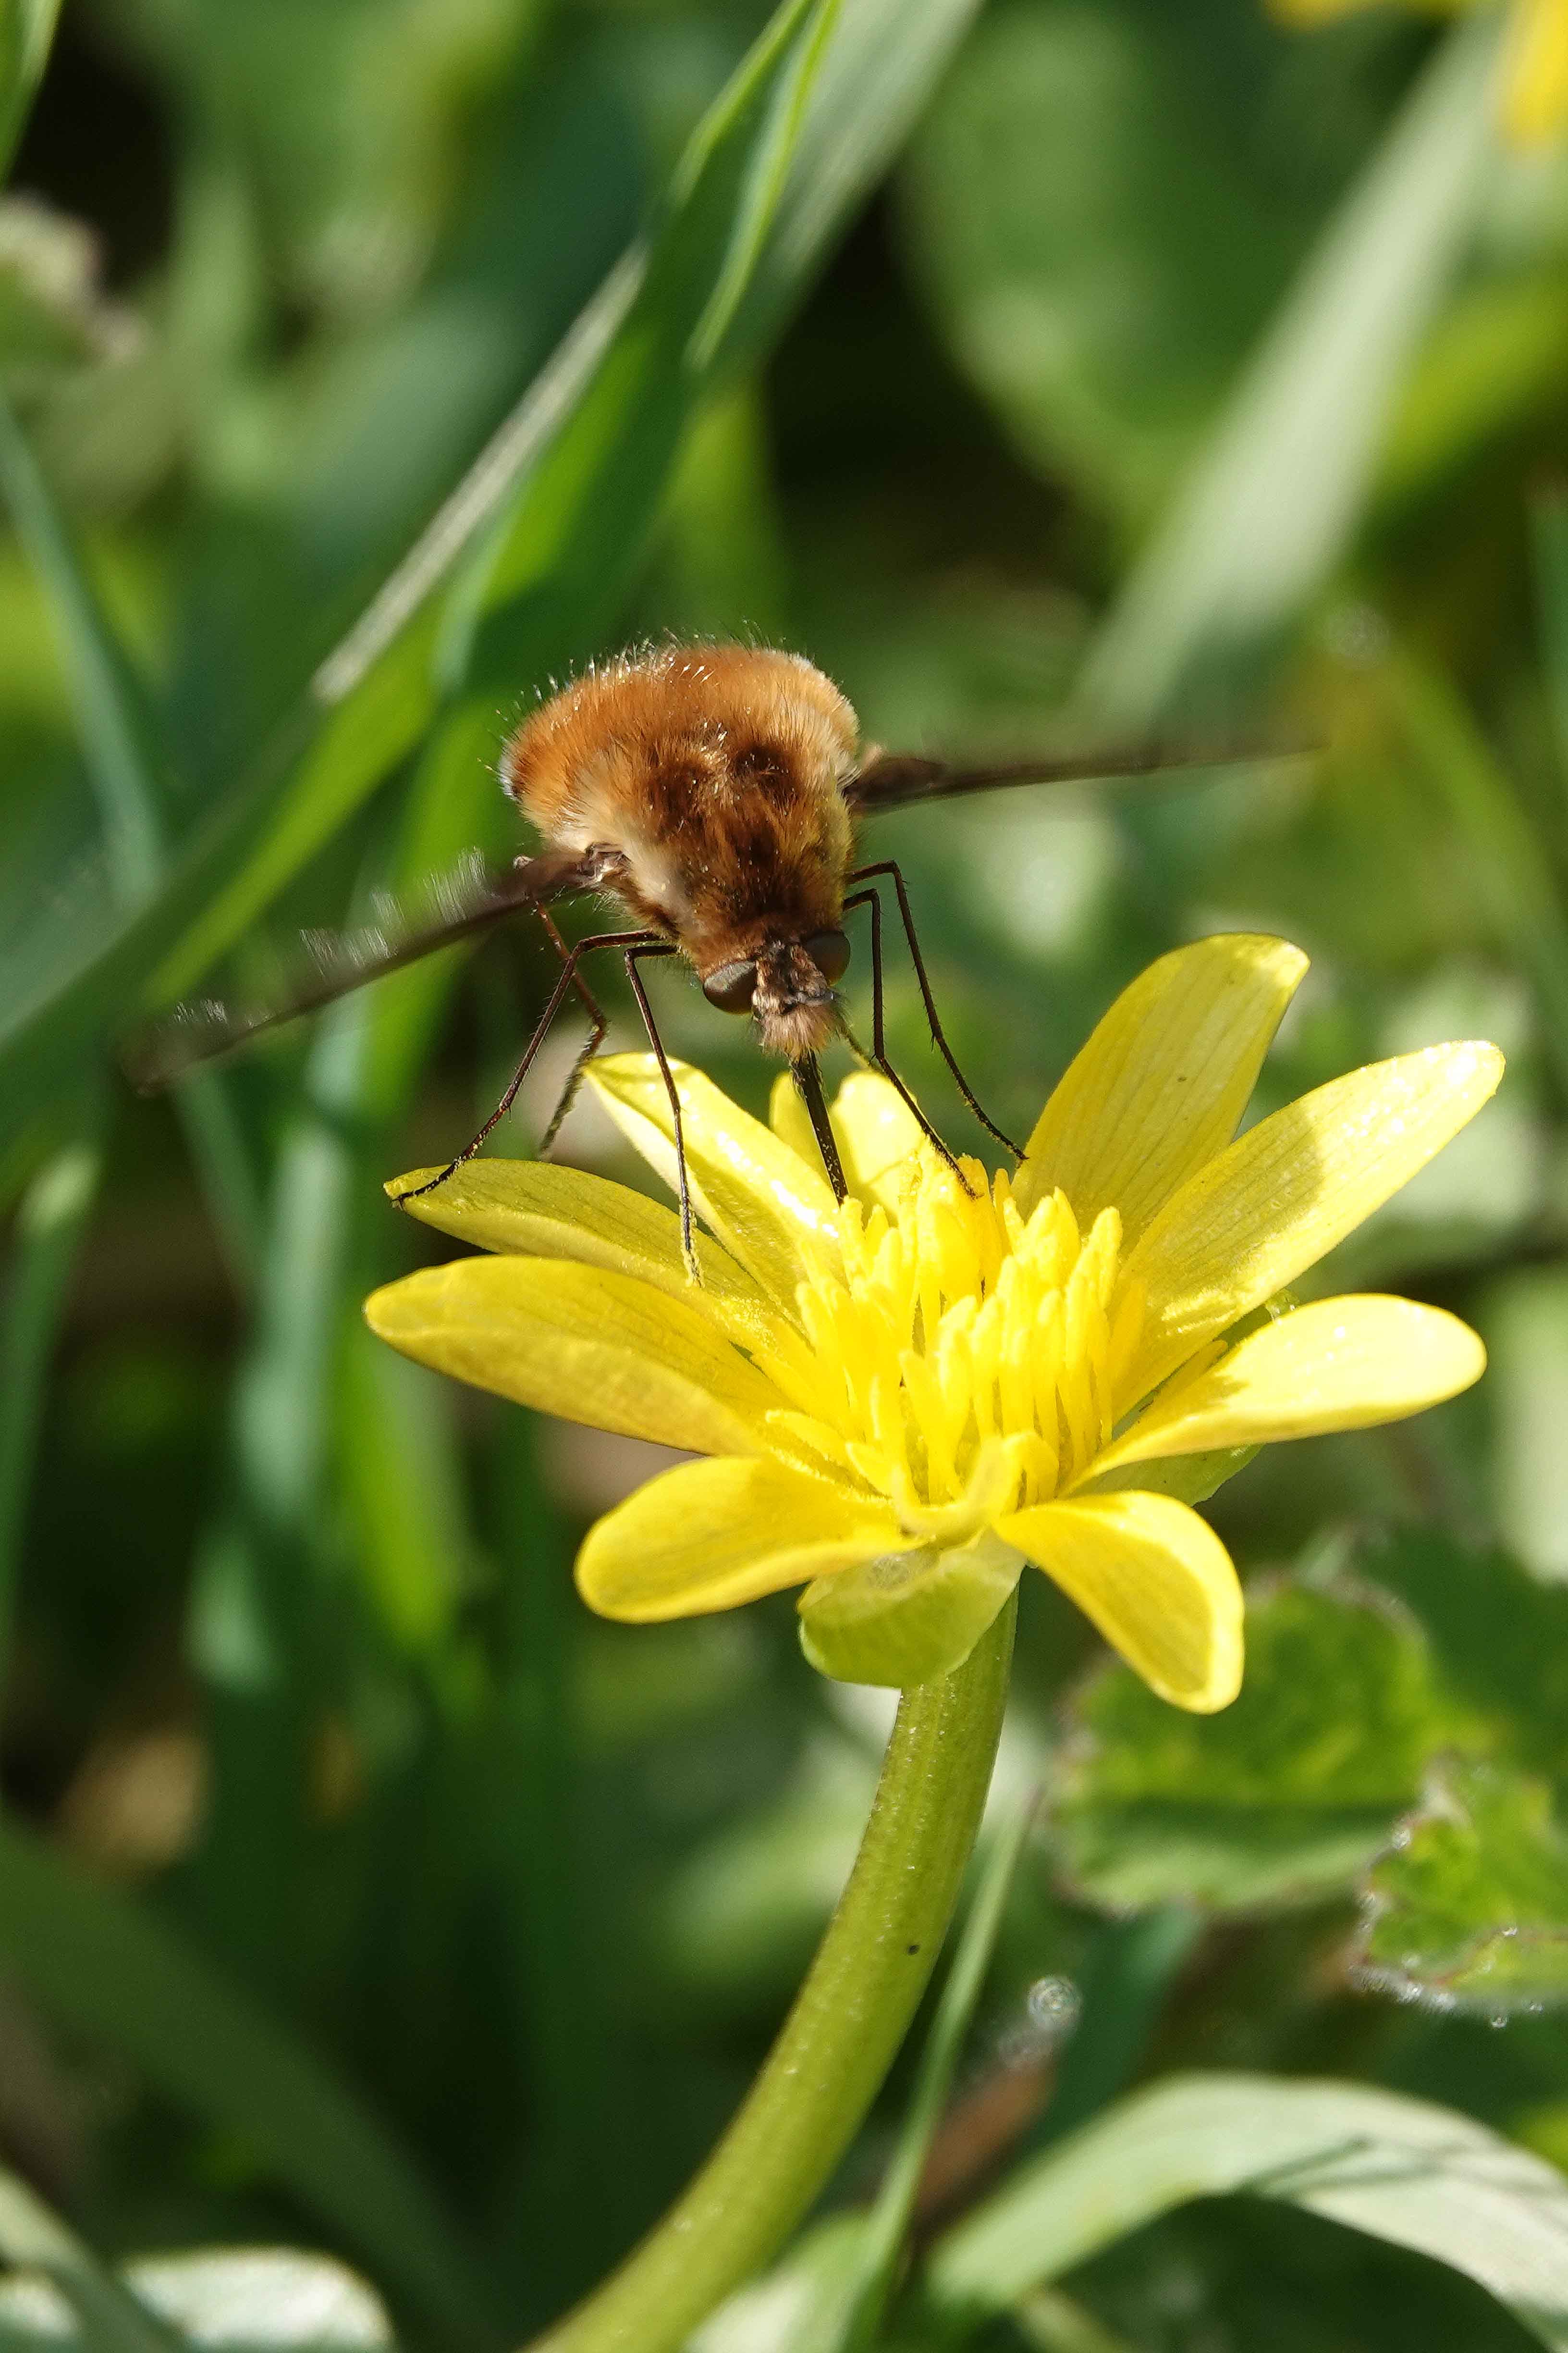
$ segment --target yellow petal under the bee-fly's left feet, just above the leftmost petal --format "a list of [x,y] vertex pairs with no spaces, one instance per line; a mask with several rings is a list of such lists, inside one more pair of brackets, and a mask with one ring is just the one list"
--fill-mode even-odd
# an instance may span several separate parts
[[435,1169],[411,1169],[386,1191],[409,1217],[454,1233],[475,1249],[609,1266],[686,1304],[733,1308],[741,1329],[769,1313],[745,1268],[705,1233],[693,1235],[703,1268],[703,1297],[693,1301],[675,1209],[607,1176],[557,1167],[552,1160],[470,1160],[435,1193],[402,1198],[409,1186],[430,1176]]

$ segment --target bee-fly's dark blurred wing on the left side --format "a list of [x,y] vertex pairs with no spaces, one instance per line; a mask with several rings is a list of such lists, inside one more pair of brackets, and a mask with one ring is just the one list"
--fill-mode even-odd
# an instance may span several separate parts
[[451,873],[430,882],[416,908],[378,899],[374,920],[353,932],[306,932],[306,969],[287,984],[270,1005],[237,1007],[216,998],[195,998],[160,1014],[129,1038],[120,1059],[141,1094],[169,1087],[195,1064],[228,1054],[261,1031],[294,1021],[299,1014],[331,1005],[353,988],[418,962],[437,948],[489,932],[520,908],[545,906],[583,889],[581,861],[545,854],[515,866],[487,866],[465,859]]

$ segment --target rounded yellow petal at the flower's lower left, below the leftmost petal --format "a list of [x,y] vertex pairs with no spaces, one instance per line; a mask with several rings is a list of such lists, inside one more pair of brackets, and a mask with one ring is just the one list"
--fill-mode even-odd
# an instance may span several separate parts
[[578,1593],[599,1617],[733,1609],[900,1541],[891,1511],[785,1464],[682,1464],[588,1529]]

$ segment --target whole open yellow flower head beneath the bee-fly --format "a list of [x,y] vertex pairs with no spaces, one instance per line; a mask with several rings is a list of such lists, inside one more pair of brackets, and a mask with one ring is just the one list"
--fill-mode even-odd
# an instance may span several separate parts
[[[369,1322],[505,1398],[712,1457],[590,1529],[576,1574],[604,1617],[804,1586],[816,1666],[922,1682],[966,1657],[1032,1560],[1154,1692],[1222,1708],[1241,1591],[1192,1504],[1272,1438],[1392,1421],[1483,1367],[1474,1332],[1406,1299],[1279,1306],[1502,1071],[1490,1045],[1427,1047],[1232,1141],[1305,965],[1251,934],[1161,958],[1018,1172],[987,1181],[966,1160],[971,1191],[879,1078],[835,1104],[839,1207],[788,1078],[764,1127],[679,1066],[701,1285],[661,1202],[477,1160],[409,1207],[491,1257],[388,1285]],[[651,1056],[592,1078],[672,1181]]]

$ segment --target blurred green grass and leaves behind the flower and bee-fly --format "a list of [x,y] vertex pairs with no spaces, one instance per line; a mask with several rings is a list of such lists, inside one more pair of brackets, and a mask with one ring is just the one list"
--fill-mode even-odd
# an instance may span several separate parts
[[[1314,1278],[1465,1313],[1490,1377],[1215,1499],[1258,1593],[1234,1715],[1173,1722],[1023,1595],[1001,1784],[1048,1798],[966,2078],[1018,2097],[950,2195],[1168,2066],[1359,2075],[1568,2160],[1568,146],[1500,139],[1495,14],[846,0],[736,94],[762,28],[66,0],[0,205],[0,2155],[103,2257],[334,2249],[411,2346],[543,2325],[684,2181],[886,1715],[788,1598],[592,1624],[574,1544],[654,1449],[357,1322],[430,1245],[383,1179],[470,1134],[541,1002],[527,925],[179,1099],[110,1042],[522,847],[508,727],[665,631],[809,652],[896,748],[1307,746],[877,826],[1013,1132],[1208,929],[1314,958],[1260,1108],[1509,1052]],[[656,981],[759,1108],[741,1026]],[[907,974],[891,1016],[973,1146]],[[562,1151],[632,1176],[590,1108]],[[1467,1852],[1401,1878],[1434,1819]],[[1070,2287],[985,2344],[1530,2341],[1284,2207]]]

